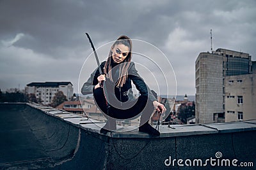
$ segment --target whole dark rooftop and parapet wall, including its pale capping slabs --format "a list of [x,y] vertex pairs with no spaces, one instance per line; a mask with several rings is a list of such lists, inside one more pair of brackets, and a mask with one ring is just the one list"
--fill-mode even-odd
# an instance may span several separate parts
[[[117,132],[102,135],[101,122],[37,104],[0,104],[0,115],[0,169],[234,169],[210,162],[185,165],[188,159],[193,164],[211,158],[253,163],[243,169],[256,165],[256,120],[162,125],[161,136],[150,138],[134,127],[119,126]],[[222,156],[217,159],[216,153]],[[177,160],[166,166],[169,159],[182,159],[184,166]]]

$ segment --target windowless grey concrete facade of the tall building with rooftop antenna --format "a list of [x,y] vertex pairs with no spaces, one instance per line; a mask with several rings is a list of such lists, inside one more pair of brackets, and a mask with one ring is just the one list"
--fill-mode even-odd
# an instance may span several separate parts
[[214,122],[223,113],[223,56],[200,53],[196,59],[196,123]]

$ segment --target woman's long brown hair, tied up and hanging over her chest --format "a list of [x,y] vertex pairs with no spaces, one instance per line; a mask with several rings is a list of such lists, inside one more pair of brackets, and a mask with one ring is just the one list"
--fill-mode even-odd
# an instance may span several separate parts
[[[130,62],[132,59],[132,41],[129,37],[127,36],[120,36],[118,39],[116,39],[115,43],[111,46],[113,48],[115,45],[123,44],[125,46],[129,47],[129,53],[127,54],[127,57],[125,60],[120,63],[120,69],[119,69],[119,78],[118,81],[116,82],[116,87],[123,87],[125,81],[128,78],[128,68],[130,66]],[[111,72],[111,64],[113,63],[112,59],[112,51],[110,50],[109,55],[108,55],[108,60],[106,61],[105,67],[104,67],[104,73],[108,74],[108,78],[113,81],[112,74]],[[122,65],[122,66],[121,66]],[[122,68],[121,68],[122,67]]]

